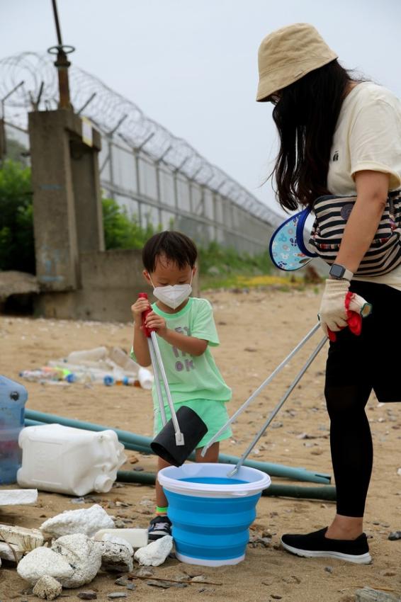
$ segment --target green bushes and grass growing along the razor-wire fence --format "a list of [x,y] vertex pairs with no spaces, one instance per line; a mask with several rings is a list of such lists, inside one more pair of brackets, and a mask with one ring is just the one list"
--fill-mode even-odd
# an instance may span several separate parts
[[[128,215],[115,200],[102,202],[106,249],[142,249],[157,232],[151,224],[141,227],[137,217]],[[251,256],[216,242],[200,247],[199,263],[203,288],[264,285],[259,280],[272,268],[267,250]],[[20,161],[5,161],[0,169],[0,270],[35,273],[30,169]]]

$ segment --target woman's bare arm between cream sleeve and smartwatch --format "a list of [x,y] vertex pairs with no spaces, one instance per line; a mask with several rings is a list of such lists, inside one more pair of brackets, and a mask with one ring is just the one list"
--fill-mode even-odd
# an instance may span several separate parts
[[390,176],[381,171],[357,171],[356,201],[344,229],[335,263],[355,273],[378,229],[388,197]]

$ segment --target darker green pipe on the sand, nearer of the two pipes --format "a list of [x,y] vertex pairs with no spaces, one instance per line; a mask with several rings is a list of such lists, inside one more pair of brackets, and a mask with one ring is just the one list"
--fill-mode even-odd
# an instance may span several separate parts
[[[144,485],[154,485],[156,475],[153,472],[137,472],[135,470],[119,470],[117,480],[125,483],[142,483]],[[300,487],[297,485],[271,485],[262,492],[263,496],[277,497],[295,497],[299,499],[324,499],[335,501],[336,488],[326,485],[326,487]]]

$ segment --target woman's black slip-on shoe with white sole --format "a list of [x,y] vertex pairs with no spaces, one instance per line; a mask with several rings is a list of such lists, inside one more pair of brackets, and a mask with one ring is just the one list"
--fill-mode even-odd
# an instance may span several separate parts
[[365,533],[354,540],[329,539],[324,537],[327,527],[307,535],[283,535],[284,550],[306,558],[338,558],[356,564],[372,562]]

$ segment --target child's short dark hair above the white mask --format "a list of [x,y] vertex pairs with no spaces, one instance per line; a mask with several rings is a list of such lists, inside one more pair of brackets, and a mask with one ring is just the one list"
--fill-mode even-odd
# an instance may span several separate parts
[[154,272],[157,258],[160,255],[166,256],[169,261],[174,261],[181,269],[185,266],[193,268],[198,250],[195,243],[182,232],[165,230],[154,234],[145,243],[142,249],[142,262],[145,270],[149,273]]

